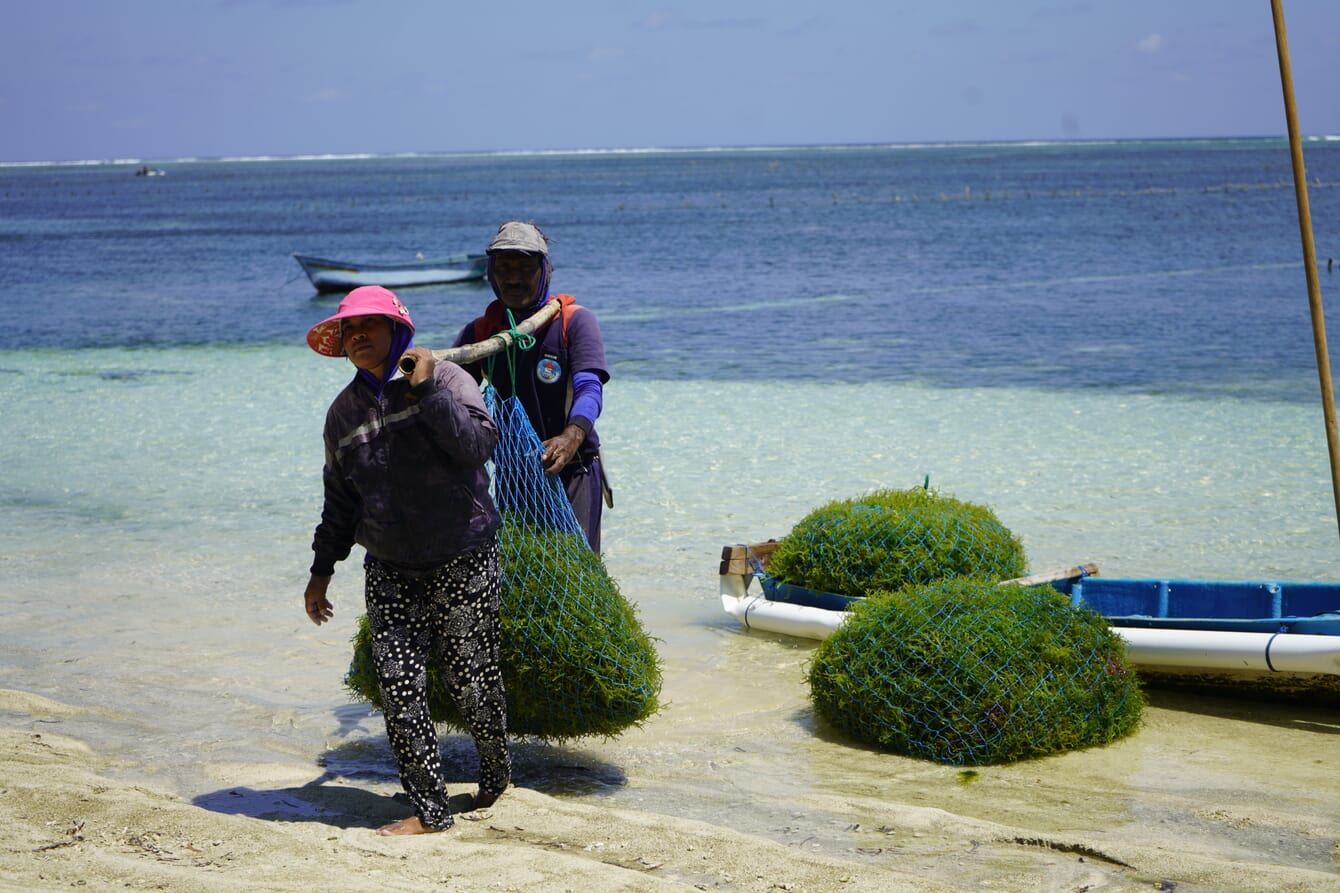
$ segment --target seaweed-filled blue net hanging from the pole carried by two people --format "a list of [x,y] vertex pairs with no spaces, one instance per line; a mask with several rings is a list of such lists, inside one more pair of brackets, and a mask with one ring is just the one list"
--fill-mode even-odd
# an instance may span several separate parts
[[[564,740],[612,736],[659,707],[661,665],[634,606],[591,551],[543,445],[516,398],[485,397],[501,433],[493,497],[503,515],[501,665],[508,732]],[[381,708],[367,618],[359,618],[346,687]],[[429,670],[434,721],[465,729]]]

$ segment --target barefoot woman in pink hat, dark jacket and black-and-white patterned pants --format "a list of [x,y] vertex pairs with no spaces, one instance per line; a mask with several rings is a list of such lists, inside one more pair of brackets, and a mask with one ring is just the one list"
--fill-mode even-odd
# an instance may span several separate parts
[[[425,673],[431,662],[480,755],[472,809],[512,775],[498,666],[498,512],[484,463],[498,432],[478,385],[460,366],[413,347],[414,323],[379,286],[355,288],[307,343],[348,357],[354,379],[326,413],[326,500],[303,598],[314,623],[331,618],[335,563],[355,543],[363,560],[373,658],[386,735],[414,815],[378,834],[453,825]],[[414,371],[398,374],[402,355]]]

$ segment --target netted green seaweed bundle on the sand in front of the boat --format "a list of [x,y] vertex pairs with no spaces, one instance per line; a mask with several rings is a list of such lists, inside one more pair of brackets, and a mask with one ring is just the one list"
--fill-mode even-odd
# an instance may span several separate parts
[[858,741],[954,766],[1108,744],[1144,707],[1101,615],[967,578],[870,594],[819,646],[809,693]]

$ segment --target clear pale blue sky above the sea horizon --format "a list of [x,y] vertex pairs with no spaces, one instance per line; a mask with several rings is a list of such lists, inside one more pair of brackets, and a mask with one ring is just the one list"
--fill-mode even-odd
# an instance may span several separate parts
[[[1282,135],[1269,0],[7,0],[0,161]],[[1340,134],[1340,0],[1284,0]]]

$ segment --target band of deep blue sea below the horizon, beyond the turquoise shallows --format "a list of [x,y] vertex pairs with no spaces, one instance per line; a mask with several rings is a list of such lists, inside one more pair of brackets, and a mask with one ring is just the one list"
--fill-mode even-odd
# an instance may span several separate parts
[[[1340,142],[1306,165],[1333,287]],[[0,168],[0,288],[40,308],[0,349],[295,343],[336,298],[291,252],[478,251],[521,217],[628,377],[1317,396],[1282,139],[135,169]],[[441,341],[486,296],[405,295]]]

